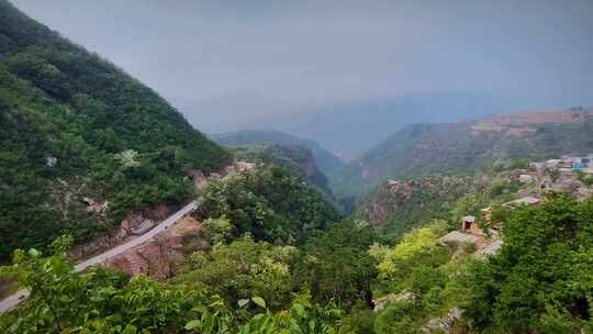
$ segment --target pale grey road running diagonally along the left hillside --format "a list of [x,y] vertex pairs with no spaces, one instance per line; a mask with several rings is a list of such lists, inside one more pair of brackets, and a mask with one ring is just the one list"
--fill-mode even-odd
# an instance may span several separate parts
[[[75,269],[77,271],[82,271],[85,269],[87,269],[88,267],[90,266],[93,266],[93,265],[99,265],[99,264],[102,264],[104,261],[107,261],[108,259],[114,257],[114,256],[118,256],[128,249],[132,249],[138,245],[142,245],[143,243],[149,241],[150,238],[153,238],[155,235],[159,234],[160,232],[165,231],[166,229],[168,229],[169,226],[172,226],[175,225],[175,223],[177,223],[178,220],[180,220],[182,216],[184,216],[186,214],[192,212],[192,211],[195,211],[199,207],[199,202],[198,201],[192,201],[191,203],[187,204],[186,207],[181,208],[179,211],[175,212],[174,214],[171,214],[169,218],[167,218],[166,220],[164,220],[163,222],[160,222],[158,225],[156,225],[154,229],[152,229],[150,231],[146,232],[145,234],[136,237],[136,238],[133,238],[131,241],[128,241],[127,243],[124,243],[124,244],[121,244],[119,246],[115,246],[102,254],[99,254],[94,257],[91,257],[78,265],[75,266]],[[7,311],[10,311],[12,310],[13,308],[15,308],[21,301],[25,300],[27,297],[29,297],[30,292],[29,290],[26,289],[21,289],[19,291],[16,291],[14,294],[3,299],[2,301],[0,301],[0,314],[1,313],[4,313]]]

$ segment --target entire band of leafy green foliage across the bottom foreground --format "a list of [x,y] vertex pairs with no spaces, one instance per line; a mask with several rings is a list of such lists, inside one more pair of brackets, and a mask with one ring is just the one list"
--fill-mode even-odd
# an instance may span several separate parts
[[441,221],[392,247],[345,221],[299,247],[250,237],[221,242],[193,255],[188,271],[169,283],[74,272],[63,240],[55,256],[16,252],[14,264],[0,269],[33,291],[0,316],[0,331],[590,333],[592,222],[593,200],[553,197],[522,207],[506,213],[502,250],[479,259],[468,247],[454,252],[438,243],[447,230]]

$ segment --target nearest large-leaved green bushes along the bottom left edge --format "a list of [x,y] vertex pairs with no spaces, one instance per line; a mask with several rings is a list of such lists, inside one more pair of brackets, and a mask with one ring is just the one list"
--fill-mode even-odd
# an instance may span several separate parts
[[51,257],[19,250],[13,265],[0,269],[32,292],[24,305],[0,316],[2,333],[335,333],[340,315],[306,294],[280,312],[269,311],[256,296],[235,309],[184,285],[100,269],[78,274],[65,257],[68,244],[67,238],[55,242]]

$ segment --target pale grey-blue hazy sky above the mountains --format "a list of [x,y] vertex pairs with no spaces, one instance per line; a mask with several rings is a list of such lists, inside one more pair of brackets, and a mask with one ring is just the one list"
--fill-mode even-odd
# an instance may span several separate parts
[[593,104],[592,0],[12,1],[205,131],[418,93]]

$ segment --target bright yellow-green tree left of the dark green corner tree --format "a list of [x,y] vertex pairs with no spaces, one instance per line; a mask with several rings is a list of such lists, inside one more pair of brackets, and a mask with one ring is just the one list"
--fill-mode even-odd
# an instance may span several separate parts
[[[391,248],[371,247],[370,253],[379,260],[373,294],[383,299],[378,299],[376,333],[424,333],[433,319],[446,316],[471,292],[462,279],[467,259],[451,257],[451,249],[438,244],[446,227],[445,222],[433,222],[404,234]],[[451,329],[459,324],[454,321],[446,325]]]

